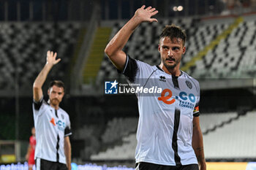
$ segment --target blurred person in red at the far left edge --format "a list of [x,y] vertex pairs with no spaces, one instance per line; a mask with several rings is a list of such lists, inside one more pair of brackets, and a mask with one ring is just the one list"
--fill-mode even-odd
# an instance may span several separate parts
[[28,152],[26,153],[26,160],[29,163],[29,170],[33,169],[34,166],[34,150],[36,149],[36,130],[35,128],[31,128],[31,136],[29,138],[29,147]]

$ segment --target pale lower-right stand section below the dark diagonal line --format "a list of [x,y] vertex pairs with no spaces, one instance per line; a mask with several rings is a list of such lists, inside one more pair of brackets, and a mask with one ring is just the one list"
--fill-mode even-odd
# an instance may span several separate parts
[[207,158],[255,158],[256,112],[203,136]]

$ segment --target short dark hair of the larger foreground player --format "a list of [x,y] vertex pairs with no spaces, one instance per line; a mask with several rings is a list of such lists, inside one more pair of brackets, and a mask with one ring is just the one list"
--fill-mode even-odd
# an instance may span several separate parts
[[162,33],[160,34],[159,39],[162,39],[163,37],[169,37],[170,39],[182,39],[182,45],[185,45],[187,35],[185,30],[182,30],[179,26],[176,26],[175,24],[165,26],[165,28],[162,30]]

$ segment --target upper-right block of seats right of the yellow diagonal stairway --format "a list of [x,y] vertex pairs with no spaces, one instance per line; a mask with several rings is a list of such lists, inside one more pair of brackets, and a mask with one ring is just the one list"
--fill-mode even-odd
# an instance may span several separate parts
[[255,73],[255,20],[244,20],[219,45],[195,64],[193,75],[248,78]]

